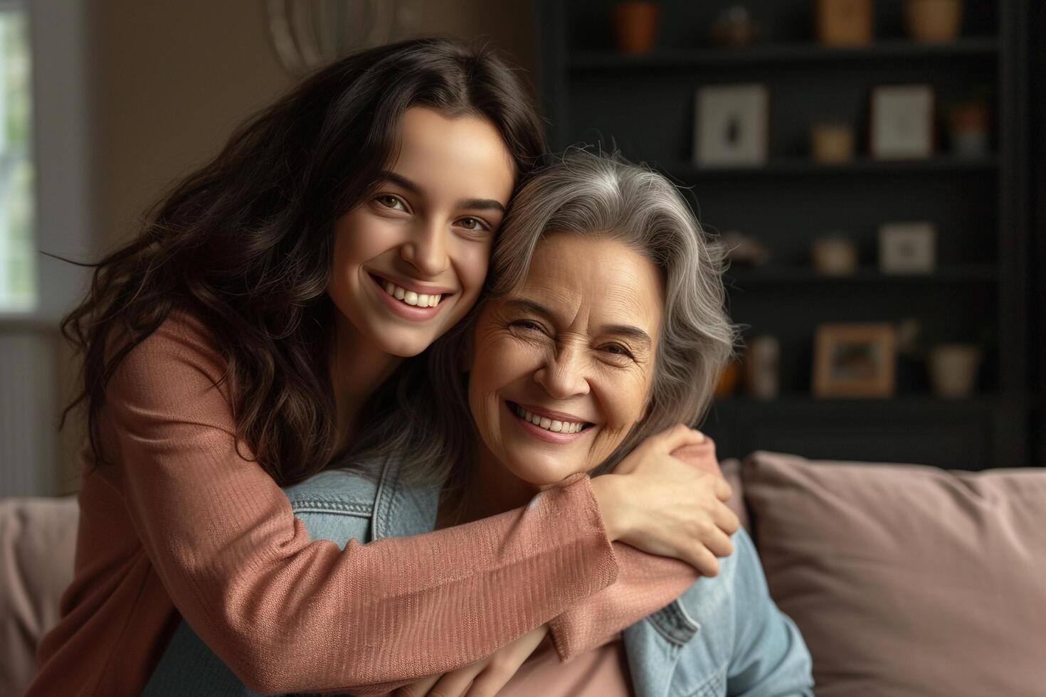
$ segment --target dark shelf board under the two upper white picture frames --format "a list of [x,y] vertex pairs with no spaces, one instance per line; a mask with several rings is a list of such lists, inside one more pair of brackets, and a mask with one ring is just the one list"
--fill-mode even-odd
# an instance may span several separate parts
[[904,175],[904,173],[978,173],[998,168],[997,157],[960,158],[940,155],[920,160],[873,160],[858,158],[850,162],[824,164],[808,158],[780,158],[764,165],[735,167],[699,167],[689,162],[649,163],[682,180],[723,177],[823,177],[837,175]]

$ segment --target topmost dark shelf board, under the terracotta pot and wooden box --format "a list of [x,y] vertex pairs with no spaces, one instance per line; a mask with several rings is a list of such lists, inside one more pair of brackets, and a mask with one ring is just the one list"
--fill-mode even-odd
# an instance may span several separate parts
[[856,48],[825,47],[814,43],[766,44],[745,48],[695,47],[661,49],[644,55],[615,50],[578,50],[569,55],[570,70],[620,68],[695,68],[761,63],[877,61],[882,59],[994,56],[995,37],[969,37],[947,44],[917,44],[904,40],[879,41]]

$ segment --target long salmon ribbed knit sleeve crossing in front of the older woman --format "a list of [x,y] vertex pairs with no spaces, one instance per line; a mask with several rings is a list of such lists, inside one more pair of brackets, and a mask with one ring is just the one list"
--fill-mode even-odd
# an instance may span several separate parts
[[237,450],[215,387],[224,365],[190,329],[168,320],[114,373],[107,459],[174,604],[250,689],[448,672],[616,579],[584,474],[475,524],[344,550],[312,540],[246,444]]

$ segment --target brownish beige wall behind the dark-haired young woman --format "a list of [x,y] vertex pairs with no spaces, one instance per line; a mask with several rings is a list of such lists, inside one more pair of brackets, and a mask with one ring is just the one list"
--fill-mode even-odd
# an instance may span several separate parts
[[[528,0],[423,6],[415,33],[488,36],[532,68]],[[89,14],[95,225],[109,248],[294,78],[269,43],[263,0],[91,0]]]

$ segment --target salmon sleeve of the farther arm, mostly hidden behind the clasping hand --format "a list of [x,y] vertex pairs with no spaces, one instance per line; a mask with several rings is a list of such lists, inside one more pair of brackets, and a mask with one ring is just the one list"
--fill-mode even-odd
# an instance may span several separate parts
[[[683,462],[722,474],[715,443],[707,438],[673,452]],[[614,542],[617,581],[593,594],[549,623],[552,642],[563,661],[610,642],[619,631],[656,612],[683,595],[699,578],[685,561],[640,552]]]

